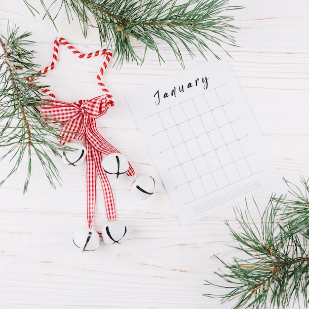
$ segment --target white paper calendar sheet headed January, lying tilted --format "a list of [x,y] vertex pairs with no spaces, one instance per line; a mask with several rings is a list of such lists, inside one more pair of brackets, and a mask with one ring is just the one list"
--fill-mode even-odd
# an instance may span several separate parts
[[183,225],[281,182],[227,60],[125,98]]

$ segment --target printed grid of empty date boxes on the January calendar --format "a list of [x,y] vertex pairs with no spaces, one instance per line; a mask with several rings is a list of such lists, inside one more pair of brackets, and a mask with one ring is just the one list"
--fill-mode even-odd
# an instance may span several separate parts
[[175,157],[166,171],[179,178],[174,189],[187,192],[184,204],[263,171],[253,171],[248,160],[257,152],[245,153],[242,148],[250,134],[237,132],[242,117],[233,113],[236,102],[223,102],[218,93],[225,85],[146,117],[159,120],[161,128],[152,137],[159,144],[159,154]]

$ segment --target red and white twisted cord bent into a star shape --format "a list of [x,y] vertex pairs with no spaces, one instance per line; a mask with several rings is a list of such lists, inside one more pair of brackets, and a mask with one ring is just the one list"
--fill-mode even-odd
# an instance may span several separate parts
[[[78,58],[82,59],[82,58],[91,58],[91,57],[97,57],[100,55],[105,55],[105,59],[104,62],[102,64],[102,67],[100,68],[100,72],[97,75],[97,81],[98,81],[98,85],[102,88],[102,91],[106,93],[107,98],[109,99],[109,104],[111,106],[114,105],[114,101],[113,101],[113,96],[111,95],[110,91],[106,88],[105,84],[102,81],[102,76],[104,74],[104,70],[107,68],[108,63],[111,60],[111,57],[113,56],[113,53],[111,51],[107,51],[106,48],[101,49],[101,50],[97,50],[95,52],[90,52],[88,54],[83,54],[80,51],[78,51],[73,45],[70,44],[70,42],[68,42],[66,39],[64,38],[57,38],[54,40],[54,47],[53,47],[53,60],[51,62],[51,64],[49,66],[47,66],[44,70],[40,70],[38,72],[38,74],[40,75],[42,72],[43,73],[47,73],[50,70],[53,70],[55,67],[55,64],[58,62],[58,53],[59,53],[59,45],[60,43],[62,43],[63,45],[65,45],[68,49],[70,49],[74,54],[77,55]],[[28,77],[27,81],[31,82],[34,80],[34,77]],[[54,95],[54,93],[50,90],[50,89],[43,89],[41,90],[42,93],[49,95],[52,100],[56,99],[56,96]]]

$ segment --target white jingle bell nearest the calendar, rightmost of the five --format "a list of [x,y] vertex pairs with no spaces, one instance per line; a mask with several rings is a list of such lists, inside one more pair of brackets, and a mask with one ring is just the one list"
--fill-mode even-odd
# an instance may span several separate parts
[[154,187],[153,177],[149,175],[136,176],[132,182],[132,194],[140,200],[145,200],[154,194]]

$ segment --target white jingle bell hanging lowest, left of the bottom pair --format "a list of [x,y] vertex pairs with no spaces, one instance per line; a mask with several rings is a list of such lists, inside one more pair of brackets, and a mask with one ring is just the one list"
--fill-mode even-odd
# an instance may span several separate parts
[[73,242],[81,252],[94,251],[99,247],[100,236],[92,229],[80,229],[74,233]]

